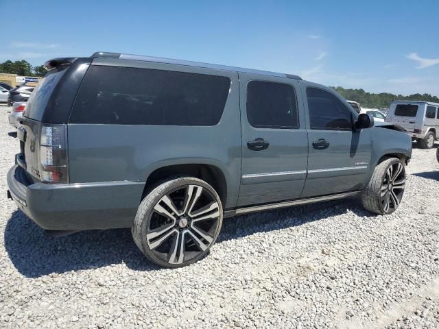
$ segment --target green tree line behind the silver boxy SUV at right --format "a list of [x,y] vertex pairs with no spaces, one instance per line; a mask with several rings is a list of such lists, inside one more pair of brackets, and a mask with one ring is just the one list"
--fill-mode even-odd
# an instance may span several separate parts
[[390,93],[366,93],[363,89],[345,89],[343,87],[331,87],[337,93],[350,101],[357,101],[362,108],[389,108],[392,101],[434,101],[439,103],[439,97],[430,94],[413,94],[408,96],[394,95]]

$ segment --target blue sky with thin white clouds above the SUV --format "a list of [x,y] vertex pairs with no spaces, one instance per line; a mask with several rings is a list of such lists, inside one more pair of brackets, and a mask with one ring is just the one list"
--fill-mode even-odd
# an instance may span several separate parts
[[[439,1],[0,0],[0,61],[115,51],[439,95]],[[4,32],[4,30],[3,30]]]

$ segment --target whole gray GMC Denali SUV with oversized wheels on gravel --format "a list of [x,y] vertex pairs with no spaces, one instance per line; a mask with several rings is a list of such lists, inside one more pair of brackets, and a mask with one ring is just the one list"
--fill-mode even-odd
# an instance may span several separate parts
[[403,197],[410,136],[296,75],[120,53],[45,66],[8,197],[49,232],[131,228],[181,267],[223,217],[357,196],[385,215]]

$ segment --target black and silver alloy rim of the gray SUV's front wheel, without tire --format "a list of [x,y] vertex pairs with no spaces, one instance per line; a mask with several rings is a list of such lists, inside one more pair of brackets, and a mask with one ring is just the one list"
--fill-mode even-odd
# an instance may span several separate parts
[[398,208],[405,188],[405,169],[399,162],[392,162],[385,171],[381,184],[381,207],[383,212],[390,213]]

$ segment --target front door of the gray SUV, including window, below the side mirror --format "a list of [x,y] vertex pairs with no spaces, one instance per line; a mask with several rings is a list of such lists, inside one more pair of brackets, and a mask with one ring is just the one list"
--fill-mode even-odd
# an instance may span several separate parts
[[300,82],[307,102],[308,175],[302,197],[359,191],[372,155],[372,129],[353,130],[357,114],[322,86]]

